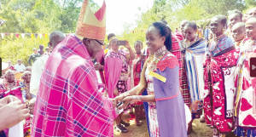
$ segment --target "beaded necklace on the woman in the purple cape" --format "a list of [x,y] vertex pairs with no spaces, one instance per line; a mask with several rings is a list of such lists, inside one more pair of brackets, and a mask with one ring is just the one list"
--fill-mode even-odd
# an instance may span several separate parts
[[[159,55],[159,57],[154,60],[154,54]],[[166,54],[166,46],[161,49],[158,49],[155,53],[150,54],[148,57],[148,70],[154,71],[155,67],[157,66],[158,62],[163,58]]]

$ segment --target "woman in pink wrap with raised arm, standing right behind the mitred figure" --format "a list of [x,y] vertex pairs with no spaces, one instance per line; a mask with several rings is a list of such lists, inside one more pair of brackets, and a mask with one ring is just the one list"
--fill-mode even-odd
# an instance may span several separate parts
[[[105,55],[104,73],[108,88],[108,97],[114,98],[127,91],[127,80],[129,77],[128,62],[135,59],[135,54],[128,41],[126,41],[125,48],[129,50],[130,54],[119,49],[119,45],[117,44],[118,38],[115,37],[113,33],[108,35],[108,41],[108,46],[111,47],[111,49],[109,49],[108,53]],[[122,133],[127,133],[128,130],[125,127],[129,126],[130,123],[125,123],[121,117],[122,114],[115,119],[116,128]],[[125,127],[120,123],[125,125]]]

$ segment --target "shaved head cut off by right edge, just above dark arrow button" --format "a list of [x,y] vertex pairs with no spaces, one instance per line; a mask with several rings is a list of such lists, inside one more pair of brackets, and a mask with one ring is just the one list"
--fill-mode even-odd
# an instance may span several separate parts
[[245,24],[247,37],[256,40],[256,18],[249,18]]

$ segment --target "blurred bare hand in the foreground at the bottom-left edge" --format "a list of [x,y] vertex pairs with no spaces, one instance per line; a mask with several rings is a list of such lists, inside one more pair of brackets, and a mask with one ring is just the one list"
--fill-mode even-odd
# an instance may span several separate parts
[[23,119],[30,117],[30,114],[20,100],[15,100],[0,108],[0,117],[1,131],[15,126],[15,124],[20,123]]

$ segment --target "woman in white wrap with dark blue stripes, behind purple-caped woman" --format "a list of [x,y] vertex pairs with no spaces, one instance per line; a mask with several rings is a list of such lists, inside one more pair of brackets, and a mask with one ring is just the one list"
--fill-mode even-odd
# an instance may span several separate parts
[[207,43],[203,38],[196,36],[195,22],[188,22],[184,26],[182,45],[183,67],[182,85],[184,103],[192,112],[192,121],[189,123],[189,133],[192,131],[192,122],[200,118],[203,109],[203,59]]

